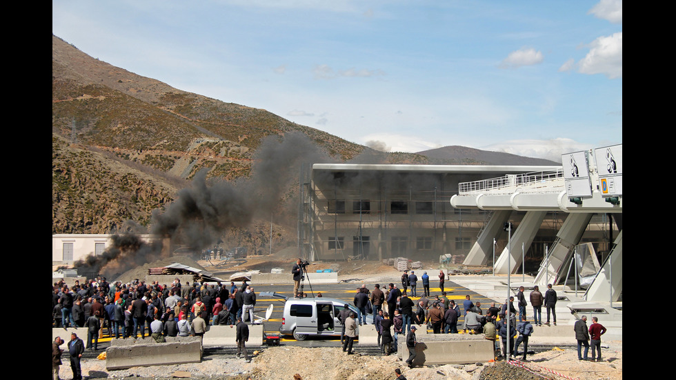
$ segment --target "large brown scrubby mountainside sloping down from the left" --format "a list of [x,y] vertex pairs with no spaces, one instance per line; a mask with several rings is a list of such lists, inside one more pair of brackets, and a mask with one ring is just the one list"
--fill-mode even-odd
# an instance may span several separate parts
[[[154,213],[166,214],[181,194],[188,198],[186,188],[207,188],[206,181],[248,181],[261,162],[288,166],[266,155],[266,148],[270,139],[296,141],[291,137],[297,135],[326,161],[493,163],[484,156],[490,152],[461,147],[464,153],[446,157],[435,152],[440,150],[377,152],[267,110],[141,77],[52,34],[52,234],[148,232]],[[285,149],[300,154],[296,146]],[[501,157],[508,156],[513,155]],[[280,249],[295,243],[299,171],[285,169],[288,183],[270,185],[279,188],[278,201],[268,200],[274,209],[266,210],[266,217],[251,214],[252,220],[228,224],[221,236],[226,246],[261,252],[270,237]]]

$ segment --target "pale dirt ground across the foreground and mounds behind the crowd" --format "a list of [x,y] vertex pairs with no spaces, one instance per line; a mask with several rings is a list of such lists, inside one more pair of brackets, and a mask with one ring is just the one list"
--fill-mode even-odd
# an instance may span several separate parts
[[[241,266],[220,271],[213,266],[217,261],[197,261],[199,266],[214,273],[224,275],[232,272],[261,270],[269,272],[272,268],[283,268],[290,272],[295,257],[277,255],[267,257],[248,257]],[[426,268],[437,268],[438,263],[425,263]],[[155,263],[153,263],[155,265]],[[347,261],[341,263],[316,263],[309,270],[339,270],[341,281],[392,281],[397,274],[392,266],[385,266],[378,261]],[[140,273],[140,272],[139,272]],[[395,277],[397,278],[397,277]],[[604,342],[605,346],[606,342]],[[359,354],[348,356],[341,348],[303,348],[297,346],[279,346],[262,348],[252,355],[251,363],[244,359],[236,359],[234,355],[209,355],[201,363],[182,364],[176,366],[152,366],[146,368],[130,368],[128,370],[106,370],[106,361],[102,359],[86,359],[82,363],[85,379],[395,379],[395,368],[409,380],[425,379],[622,379],[622,342],[612,342],[604,348],[604,361],[578,361],[574,349],[554,348],[545,352],[530,355],[527,362],[497,361],[490,363],[474,363],[469,365],[426,366],[408,368],[399,361],[396,355],[369,356]],[[250,350],[251,352],[251,350]],[[591,354],[591,352],[590,352]],[[61,379],[72,379],[68,359],[63,360],[60,371]]]

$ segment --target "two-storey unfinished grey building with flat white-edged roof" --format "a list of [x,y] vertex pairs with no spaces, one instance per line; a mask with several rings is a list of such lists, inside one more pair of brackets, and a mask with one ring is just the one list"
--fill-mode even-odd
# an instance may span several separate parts
[[[462,262],[495,211],[453,207],[450,199],[459,194],[461,183],[499,177],[517,180],[524,174],[544,178],[557,172],[561,173],[561,166],[317,163],[301,173],[300,254],[311,261],[392,257],[437,261],[448,255]],[[506,219],[518,225],[526,214],[509,210]],[[556,210],[542,214],[537,233],[527,244],[512,248],[519,256],[523,250],[526,261],[515,272],[537,270],[566,217],[566,212]],[[593,214],[580,242],[593,243],[596,252],[607,253],[612,224],[606,214]],[[497,259],[508,237],[507,232],[495,235]],[[491,261],[490,254],[484,254],[471,264],[490,266]]]

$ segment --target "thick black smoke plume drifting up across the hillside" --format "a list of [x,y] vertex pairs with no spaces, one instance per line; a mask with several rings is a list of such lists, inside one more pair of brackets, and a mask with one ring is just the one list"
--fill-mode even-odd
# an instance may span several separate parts
[[254,157],[250,177],[237,181],[207,179],[200,170],[175,201],[152,214],[150,234],[160,239],[146,243],[129,232],[112,237],[106,252],[75,263],[75,268],[121,273],[159,259],[162,239],[172,246],[199,251],[213,246],[230,228],[246,227],[257,218],[269,218],[292,183],[297,183],[301,164],[331,162],[328,154],[305,134],[292,132],[262,141]]

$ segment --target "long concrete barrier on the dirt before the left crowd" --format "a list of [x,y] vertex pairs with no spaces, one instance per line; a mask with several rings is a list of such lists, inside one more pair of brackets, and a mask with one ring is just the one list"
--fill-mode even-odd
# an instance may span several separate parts
[[166,343],[157,343],[152,338],[112,339],[110,344],[106,349],[108,370],[199,363],[202,359],[200,337],[166,337]]

